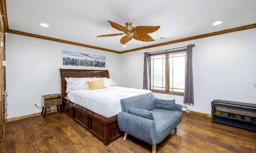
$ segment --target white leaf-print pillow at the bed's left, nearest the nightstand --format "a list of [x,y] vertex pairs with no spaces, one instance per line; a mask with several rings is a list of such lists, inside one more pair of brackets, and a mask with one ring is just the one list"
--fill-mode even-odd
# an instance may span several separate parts
[[86,83],[86,81],[95,81],[94,78],[65,78],[67,81],[67,90],[66,92],[69,92],[71,90],[77,90],[77,89],[89,89],[89,85]]

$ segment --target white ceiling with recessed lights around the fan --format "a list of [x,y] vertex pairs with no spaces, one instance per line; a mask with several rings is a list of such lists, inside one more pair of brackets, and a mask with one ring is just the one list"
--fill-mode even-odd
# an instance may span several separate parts
[[[7,0],[9,29],[123,51],[256,23],[256,0]],[[165,41],[96,37],[122,33],[107,20],[124,26],[161,26],[150,35]],[[212,23],[223,23],[213,26]],[[48,28],[39,23],[46,23]]]

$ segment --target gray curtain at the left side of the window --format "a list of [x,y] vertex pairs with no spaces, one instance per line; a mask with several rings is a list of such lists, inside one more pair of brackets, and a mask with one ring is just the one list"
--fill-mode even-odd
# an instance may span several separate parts
[[144,71],[143,71],[143,89],[145,90],[149,90],[150,87],[149,87],[149,83],[150,83],[150,80],[149,80],[149,53],[148,52],[145,52],[144,53]]

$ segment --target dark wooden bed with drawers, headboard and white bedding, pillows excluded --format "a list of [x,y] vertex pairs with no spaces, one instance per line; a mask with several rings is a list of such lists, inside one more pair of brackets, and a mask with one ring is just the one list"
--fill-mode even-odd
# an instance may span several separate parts
[[110,86],[105,89],[72,90],[66,93],[67,82],[65,78],[69,77],[110,78],[109,71],[60,69],[62,110],[105,146],[121,136],[117,123],[117,114],[121,111],[120,99],[151,92],[149,90]]

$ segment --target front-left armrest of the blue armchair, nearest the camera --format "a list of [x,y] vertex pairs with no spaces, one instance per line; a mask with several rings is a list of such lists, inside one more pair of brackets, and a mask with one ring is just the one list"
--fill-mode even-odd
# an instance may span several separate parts
[[151,145],[156,144],[155,121],[126,112],[118,113],[117,121],[120,131],[128,133]]

